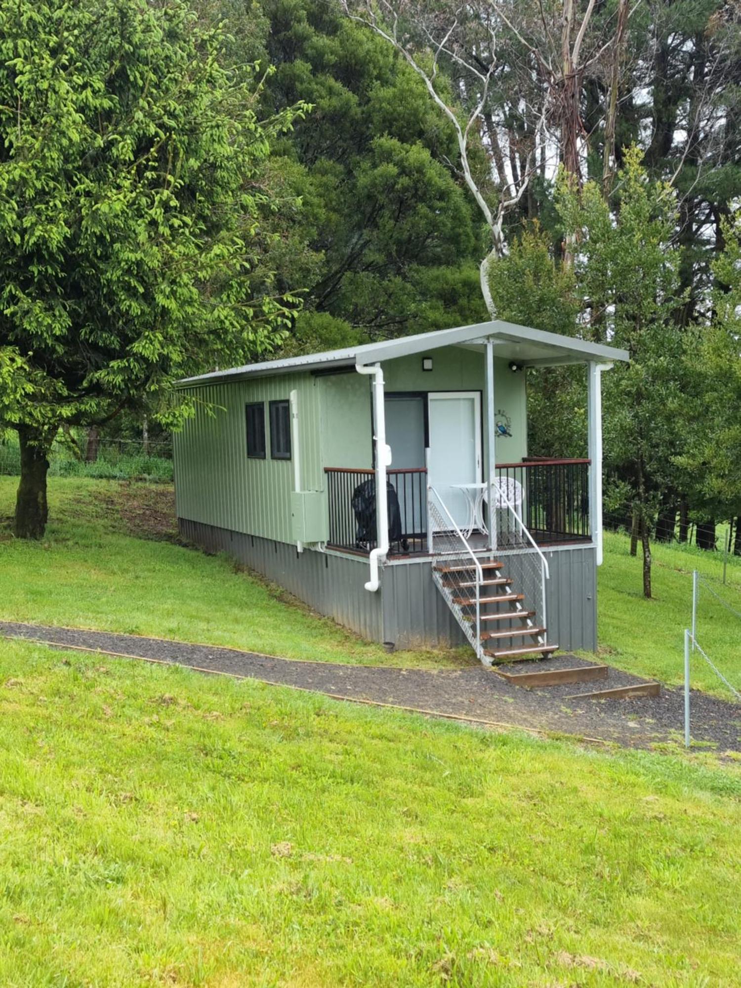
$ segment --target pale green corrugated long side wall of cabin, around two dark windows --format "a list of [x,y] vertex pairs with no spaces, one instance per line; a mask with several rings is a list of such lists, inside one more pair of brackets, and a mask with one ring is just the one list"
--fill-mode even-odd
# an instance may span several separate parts
[[[301,487],[322,490],[321,378],[308,373],[194,388],[194,419],[175,437],[175,491],[179,518],[233,532],[292,540],[293,461],[271,459],[268,401],[298,391]],[[247,456],[245,404],[265,401],[266,458]]]

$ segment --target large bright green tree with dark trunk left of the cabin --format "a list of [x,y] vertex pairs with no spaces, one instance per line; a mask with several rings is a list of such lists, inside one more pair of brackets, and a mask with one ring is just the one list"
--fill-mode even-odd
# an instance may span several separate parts
[[[39,537],[60,426],[124,408],[177,424],[170,385],[280,341],[256,284],[268,137],[253,73],[181,0],[0,0],[0,347],[16,356],[16,534]],[[262,277],[262,276],[261,276]]]

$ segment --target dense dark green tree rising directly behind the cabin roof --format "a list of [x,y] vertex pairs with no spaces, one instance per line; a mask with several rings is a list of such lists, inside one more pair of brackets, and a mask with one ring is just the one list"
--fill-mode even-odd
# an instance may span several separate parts
[[[276,270],[305,288],[292,351],[485,317],[474,278],[483,229],[453,174],[453,127],[384,41],[324,0],[264,0],[270,112],[311,113],[273,150],[285,201]],[[281,246],[283,245],[283,246]],[[452,290],[452,286],[455,290]]]

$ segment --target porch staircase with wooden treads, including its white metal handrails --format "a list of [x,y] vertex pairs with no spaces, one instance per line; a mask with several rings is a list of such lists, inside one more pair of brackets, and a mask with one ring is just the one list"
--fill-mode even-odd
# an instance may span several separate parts
[[558,648],[548,643],[545,627],[545,557],[511,505],[510,509],[522,533],[519,558],[529,578],[529,594],[505,574],[505,563],[476,556],[440,495],[434,487],[429,488],[433,579],[471,647],[487,666],[531,656],[547,658]]

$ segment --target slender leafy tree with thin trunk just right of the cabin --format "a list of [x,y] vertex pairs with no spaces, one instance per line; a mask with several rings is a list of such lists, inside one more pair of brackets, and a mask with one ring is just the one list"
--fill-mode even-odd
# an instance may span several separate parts
[[678,408],[685,389],[683,339],[674,316],[683,299],[680,251],[673,244],[677,198],[649,180],[641,152],[624,152],[617,210],[597,182],[578,196],[558,189],[564,227],[578,243],[574,277],[583,332],[628,351],[605,380],[605,463],[632,505],[643,550],[643,593],[651,596],[650,533],[661,492],[676,480],[683,436]]

